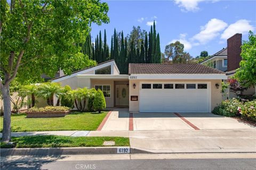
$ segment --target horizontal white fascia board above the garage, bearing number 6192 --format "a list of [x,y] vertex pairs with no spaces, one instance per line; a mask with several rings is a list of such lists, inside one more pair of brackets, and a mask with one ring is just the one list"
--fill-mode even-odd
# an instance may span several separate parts
[[225,74],[131,74],[129,79],[227,79]]

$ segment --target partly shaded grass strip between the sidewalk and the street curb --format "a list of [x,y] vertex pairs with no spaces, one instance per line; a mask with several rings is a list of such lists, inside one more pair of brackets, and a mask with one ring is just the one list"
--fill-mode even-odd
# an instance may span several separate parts
[[[115,146],[129,146],[128,137],[72,137],[72,136],[22,136],[12,137],[15,148],[104,147],[104,141],[115,141]],[[1,142],[1,148],[10,148]]]

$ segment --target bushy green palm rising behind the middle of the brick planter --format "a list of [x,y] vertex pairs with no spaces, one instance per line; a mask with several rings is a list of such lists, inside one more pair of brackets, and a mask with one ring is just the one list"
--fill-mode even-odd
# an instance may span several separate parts
[[60,103],[60,98],[62,96],[62,88],[59,83],[42,83],[38,87],[38,96],[44,98],[47,100],[47,104],[49,106],[53,106],[53,97],[54,95],[57,96],[58,101],[57,101],[57,106],[59,106]]

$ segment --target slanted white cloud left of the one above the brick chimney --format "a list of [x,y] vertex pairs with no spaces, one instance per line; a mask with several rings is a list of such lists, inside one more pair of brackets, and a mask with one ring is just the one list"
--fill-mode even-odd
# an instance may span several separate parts
[[227,26],[226,22],[213,18],[205,26],[202,26],[200,33],[194,35],[191,40],[205,44],[220,35],[220,31],[224,30]]

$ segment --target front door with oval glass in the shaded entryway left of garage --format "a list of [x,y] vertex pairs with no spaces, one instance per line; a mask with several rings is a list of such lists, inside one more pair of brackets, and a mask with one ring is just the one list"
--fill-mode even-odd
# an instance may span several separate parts
[[116,85],[116,106],[129,106],[129,87]]

